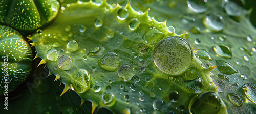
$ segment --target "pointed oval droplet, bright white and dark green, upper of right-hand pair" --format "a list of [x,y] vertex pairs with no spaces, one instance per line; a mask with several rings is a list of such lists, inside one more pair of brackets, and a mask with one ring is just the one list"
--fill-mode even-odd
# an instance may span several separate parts
[[232,57],[232,51],[227,44],[219,43],[218,45],[215,45],[214,51],[216,52],[216,54],[224,58],[230,59]]

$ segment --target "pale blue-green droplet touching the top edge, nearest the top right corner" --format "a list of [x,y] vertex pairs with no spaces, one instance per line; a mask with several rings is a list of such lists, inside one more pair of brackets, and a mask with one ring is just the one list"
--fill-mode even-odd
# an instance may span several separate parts
[[224,8],[228,15],[240,16],[243,12],[243,8],[232,1],[225,1]]

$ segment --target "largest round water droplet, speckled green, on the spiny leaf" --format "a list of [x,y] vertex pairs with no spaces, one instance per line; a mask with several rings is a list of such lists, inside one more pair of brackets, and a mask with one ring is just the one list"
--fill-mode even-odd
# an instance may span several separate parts
[[178,75],[191,64],[193,51],[190,44],[176,36],[158,42],[153,53],[155,65],[164,73]]

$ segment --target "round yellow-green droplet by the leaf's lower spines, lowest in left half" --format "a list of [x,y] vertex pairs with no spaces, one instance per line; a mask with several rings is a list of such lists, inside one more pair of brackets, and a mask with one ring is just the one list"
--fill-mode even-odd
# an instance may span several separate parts
[[116,98],[113,93],[105,92],[102,94],[101,100],[106,106],[112,106],[115,104]]

